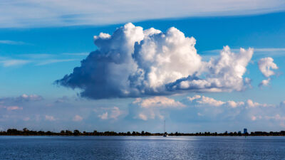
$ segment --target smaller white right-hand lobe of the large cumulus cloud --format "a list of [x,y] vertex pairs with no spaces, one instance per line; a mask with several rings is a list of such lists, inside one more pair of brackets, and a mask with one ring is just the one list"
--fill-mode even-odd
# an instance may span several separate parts
[[212,58],[204,63],[205,78],[190,75],[181,78],[168,87],[173,90],[195,90],[199,92],[230,92],[232,90],[244,90],[249,85],[248,78],[243,78],[247,70],[247,64],[253,55],[253,49],[232,53],[229,46],[225,46],[219,58]]

